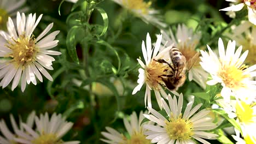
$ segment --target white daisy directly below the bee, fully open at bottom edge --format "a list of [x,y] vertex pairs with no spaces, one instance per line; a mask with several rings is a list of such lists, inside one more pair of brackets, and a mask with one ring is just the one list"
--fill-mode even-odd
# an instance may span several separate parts
[[[159,112],[148,107],[152,115],[144,114],[144,117],[158,125],[145,124],[144,128],[147,129],[144,134],[148,135],[146,139],[151,140],[152,143],[196,143],[193,139],[202,143],[209,143],[204,139],[217,139],[217,134],[208,133],[205,130],[212,130],[217,127],[212,123],[212,118],[208,117],[210,110],[203,109],[200,112],[194,113],[200,109],[202,104],[196,105],[193,109],[194,101],[190,101],[182,113],[183,94],[179,95],[177,101],[176,96],[171,97],[168,95],[168,105],[164,99],[162,104],[168,118],[162,116]],[[194,115],[194,116],[193,116]]]

